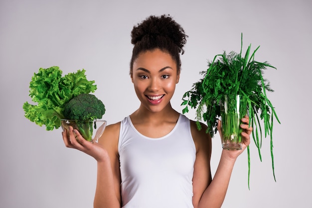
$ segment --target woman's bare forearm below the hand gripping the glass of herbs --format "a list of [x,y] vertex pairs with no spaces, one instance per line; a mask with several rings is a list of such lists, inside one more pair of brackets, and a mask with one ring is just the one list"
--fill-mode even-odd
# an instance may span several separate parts
[[222,206],[236,160],[228,157],[225,151],[229,150],[222,151],[217,171],[203,193],[198,208],[220,208]]

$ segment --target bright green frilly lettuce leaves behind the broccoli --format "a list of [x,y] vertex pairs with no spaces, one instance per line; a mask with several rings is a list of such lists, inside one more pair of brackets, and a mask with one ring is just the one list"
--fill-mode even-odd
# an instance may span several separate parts
[[48,131],[59,128],[61,119],[65,118],[64,104],[79,94],[94,93],[97,89],[95,81],[88,81],[85,72],[83,69],[62,76],[58,66],[40,68],[29,83],[29,96],[37,104],[23,104],[25,117],[39,126],[45,125]]

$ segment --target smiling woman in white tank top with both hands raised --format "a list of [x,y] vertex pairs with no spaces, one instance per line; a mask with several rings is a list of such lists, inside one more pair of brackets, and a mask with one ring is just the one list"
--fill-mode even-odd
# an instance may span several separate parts
[[99,143],[87,142],[77,130],[70,129],[69,137],[63,132],[67,147],[97,160],[95,208],[221,207],[235,160],[249,145],[252,128],[249,118],[243,118],[242,150],[223,150],[212,180],[206,126],[198,131],[194,121],[170,104],[186,37],[167,15],[150,16],[135,26],[130,76],[140,107],[108,125]]

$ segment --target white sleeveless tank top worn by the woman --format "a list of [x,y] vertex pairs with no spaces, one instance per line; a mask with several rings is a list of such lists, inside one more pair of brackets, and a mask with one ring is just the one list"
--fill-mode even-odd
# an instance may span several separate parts
[[196,148],[185,115],[160,138],[142,135],[126,117],[118,151],[122,208],[193,208]]

